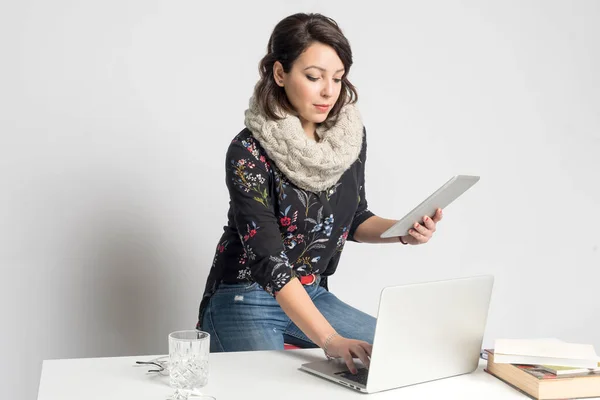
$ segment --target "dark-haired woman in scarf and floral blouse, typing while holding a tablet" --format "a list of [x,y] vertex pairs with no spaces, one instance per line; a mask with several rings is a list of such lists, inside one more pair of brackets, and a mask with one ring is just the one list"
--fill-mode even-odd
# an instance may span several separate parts
[[426,243],[442,218],[381,239],[396,221],[367,208],[366,130],[348,81],[352,52],[338,25],[296,14],[275,27],[246,128],[226,157],[228,225],[200,305],[211,351],[321,347],[369,365],[375,318],[337,299],[327,278],[346,240]]

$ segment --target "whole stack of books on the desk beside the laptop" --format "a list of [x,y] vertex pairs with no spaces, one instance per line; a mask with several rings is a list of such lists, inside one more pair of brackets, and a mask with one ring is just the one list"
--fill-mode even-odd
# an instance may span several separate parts
[[486,372],[534,399],[600,397],[600,362],[593,347],[569,346],[496,341],[495,349],[485,350]]

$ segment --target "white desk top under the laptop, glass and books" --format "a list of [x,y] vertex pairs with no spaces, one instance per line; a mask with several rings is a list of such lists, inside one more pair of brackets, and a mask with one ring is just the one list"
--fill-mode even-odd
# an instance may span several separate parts
[[[46,360],[38,400],[165,400],[173,393],[168,377],[147,374],[152,366],[133,367],[152,358]],[[483,361],[472,374],[365,395],[298,370],[318,359],[323,359],[320,349],[214,353],[204,392],[217,400],[528,399],[484,372]]]

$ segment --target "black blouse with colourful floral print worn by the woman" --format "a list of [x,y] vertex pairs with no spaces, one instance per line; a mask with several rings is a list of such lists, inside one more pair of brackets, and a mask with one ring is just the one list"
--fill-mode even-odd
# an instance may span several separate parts
[[199,310],[220,283],[257,282],[275,295],[292,277],[327,277],[339,263],[346,240],[374,214],[365,198],[366,130],[359,158],[329,189],[298,188],[269,159],[248,129],[226,156],[230,202],[228,223],[217,245]]

